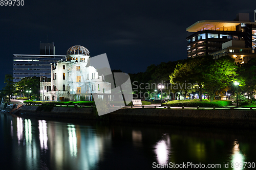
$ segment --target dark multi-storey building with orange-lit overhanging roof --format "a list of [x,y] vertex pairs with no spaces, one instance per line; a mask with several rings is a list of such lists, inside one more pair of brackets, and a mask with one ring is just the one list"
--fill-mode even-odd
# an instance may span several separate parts
[[256,22],[251,22],[247,13],[239,13],[234,21],[197,21],[186,31],[190,34],[187,37],[187,57],[209,55],[220,51],[222,43],[230,40],[243,40],[244,48],[250,48],[252,53],[255,51]]

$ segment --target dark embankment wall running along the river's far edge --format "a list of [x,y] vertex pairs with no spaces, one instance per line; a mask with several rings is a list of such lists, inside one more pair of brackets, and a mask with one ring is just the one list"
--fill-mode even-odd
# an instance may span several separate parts
[[[37,106],[23,106],[12,113],[27,116],[98,119],[93,114],[92,107],[54,107],[50,112],[36,110]],[[256,129],[256,111],[254,110],[122,108],[106,116],[113,122]]]

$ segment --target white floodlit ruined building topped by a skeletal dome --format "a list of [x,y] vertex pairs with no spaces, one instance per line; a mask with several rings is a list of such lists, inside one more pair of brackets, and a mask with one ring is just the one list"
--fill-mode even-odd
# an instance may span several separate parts
[[[86,47],[75,45],[67,51],[65,60],[51,63],[51,81],[41,77],[40,99],[44,101],[91,101],[92,93],[98,98],[110,98],[111,83],[104,81],[96,68],[88,63]],[[110,100],[110,99],[109,99]]]

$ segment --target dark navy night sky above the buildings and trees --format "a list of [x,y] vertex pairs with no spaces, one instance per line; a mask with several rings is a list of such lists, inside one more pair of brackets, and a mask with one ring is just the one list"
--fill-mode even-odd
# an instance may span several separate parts
[[151,64],[185,59],[186,28],[198,20],[233,20],[256,1],[29,1],[0,6],[0,89],[13,74],[13,54],[39,54],[54,42],[55,54],[82,45],[103,53],[112,69],[137,73]]

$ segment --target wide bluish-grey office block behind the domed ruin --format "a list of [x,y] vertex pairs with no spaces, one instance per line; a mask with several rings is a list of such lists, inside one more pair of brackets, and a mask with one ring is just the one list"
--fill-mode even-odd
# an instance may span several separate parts
[[13,78],[18,82],[25,77],[45,76],[51,78],[51,63],[66,60],[66,55],[54,55],[54,44],[40,44],[39,55],[14,54]]

